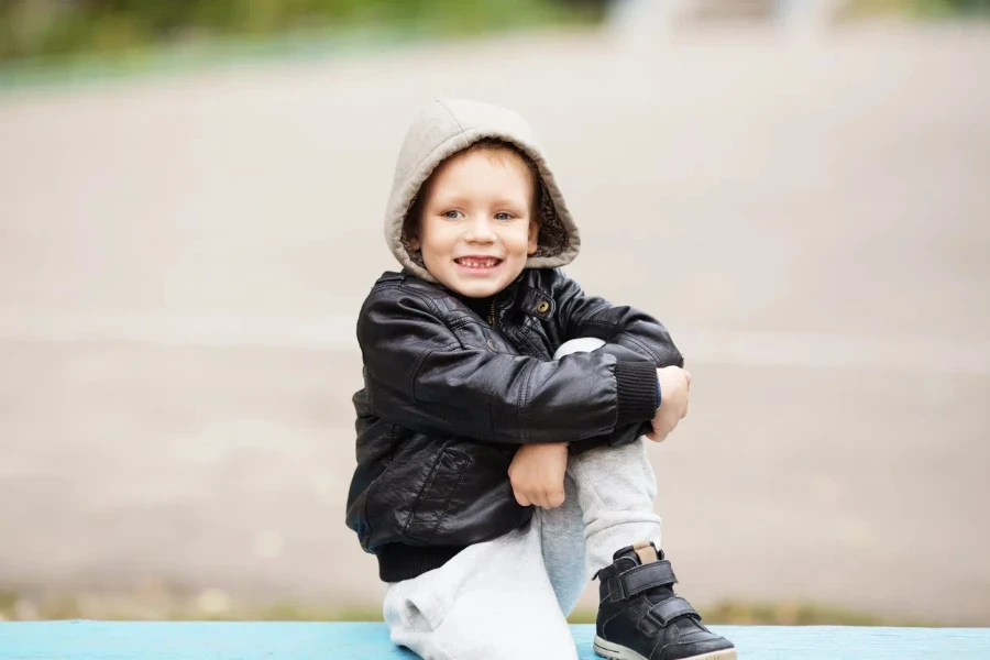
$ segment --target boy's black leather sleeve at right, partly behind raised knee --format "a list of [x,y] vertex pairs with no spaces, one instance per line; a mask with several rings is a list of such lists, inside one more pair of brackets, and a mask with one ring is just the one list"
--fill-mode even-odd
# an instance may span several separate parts
[[576,282],[559,271],[556,277],[560,280],[554,283],[554,302],[565,339],[596,337],[605,342],[598,351],[616,359],[638,356],[657,369],[684,366],[684,358],[660,321],[632,307],[586,296]]

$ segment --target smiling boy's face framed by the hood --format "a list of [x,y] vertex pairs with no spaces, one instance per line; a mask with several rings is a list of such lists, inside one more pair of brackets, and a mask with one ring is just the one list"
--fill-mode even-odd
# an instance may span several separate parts
[[522,272],[537,250],[532,174],[508,151],[455,154],[425,190],[418,235],[430,274],[471,298],[493,296]]

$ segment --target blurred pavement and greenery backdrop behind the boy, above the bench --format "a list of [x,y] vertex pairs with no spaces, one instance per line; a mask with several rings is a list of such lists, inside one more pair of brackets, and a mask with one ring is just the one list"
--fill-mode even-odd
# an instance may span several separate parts
[[[377,618],[354,338],[437,96],[671,329],[715,623],[990,625],[990,1],[0,1],[0,618]],[[587,620],[588,590],[574,620]]]

